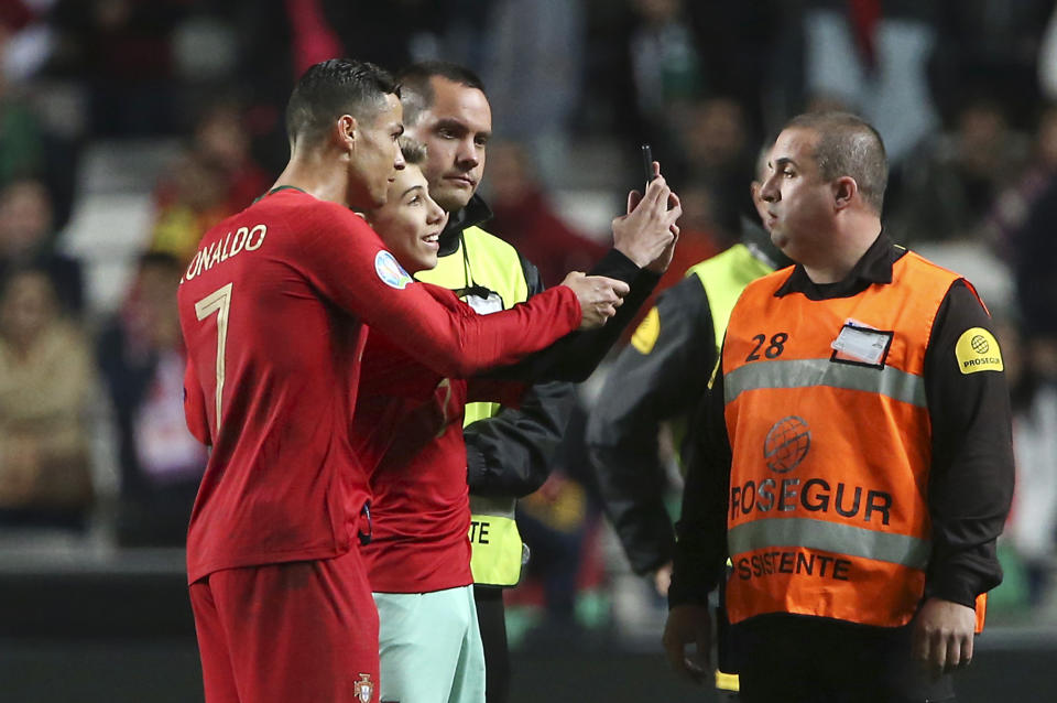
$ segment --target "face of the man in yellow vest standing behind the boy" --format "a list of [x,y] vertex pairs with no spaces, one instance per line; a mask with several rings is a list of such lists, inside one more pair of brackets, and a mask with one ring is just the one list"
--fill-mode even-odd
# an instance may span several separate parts
[[434,76],[434,100],[413,126],[412,139],[426,144],[423,166],[429,195],[446,212],[466,207],[484,174],[484,147],[492,136],[492,109],[477,88]]

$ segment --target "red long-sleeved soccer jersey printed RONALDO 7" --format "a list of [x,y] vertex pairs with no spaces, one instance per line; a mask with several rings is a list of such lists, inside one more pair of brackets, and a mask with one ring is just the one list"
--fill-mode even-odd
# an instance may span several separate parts
[[187,423],[213,445],[187,536],[189,582],[353,544],[368,496],[350,437],[366,325],[466,377],[538,348],[541,321],[549,342],[575,329],[575,295],[554,290],[535,310],[510,311],[497,334],[438,304],[360,217],[294,188],[207,231],[177,294]]

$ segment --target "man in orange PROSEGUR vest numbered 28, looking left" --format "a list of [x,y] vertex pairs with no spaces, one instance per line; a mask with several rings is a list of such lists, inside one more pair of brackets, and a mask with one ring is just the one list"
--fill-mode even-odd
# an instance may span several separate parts
[[664,646],[708,670],[729,556],[747,703],[952,700],[1002,580],[1002,353],[972,285],[882,230],[886,180],[860,118],[786,125],[762,197],[796,266],[745,289],[698,410]]

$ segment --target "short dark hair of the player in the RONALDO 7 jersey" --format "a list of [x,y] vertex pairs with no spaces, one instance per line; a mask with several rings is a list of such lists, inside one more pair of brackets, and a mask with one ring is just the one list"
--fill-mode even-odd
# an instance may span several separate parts
[[373,117],[384,107],[385,95],[400,95],[384,68],[366,61],[331,58],[304,73],[286,104],[286,134],[315,139],[342,115]]

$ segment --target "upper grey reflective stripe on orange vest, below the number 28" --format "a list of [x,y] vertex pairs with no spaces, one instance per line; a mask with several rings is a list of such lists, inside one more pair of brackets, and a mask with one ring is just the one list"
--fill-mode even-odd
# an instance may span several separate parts
[[723,376],[723,397],[729,403],[747,390],[761,388],[810,388],[829,386],[887,396],[926,408],[925,381],[920,376],[892,367],[876,369],[829,359],[754,361]]

